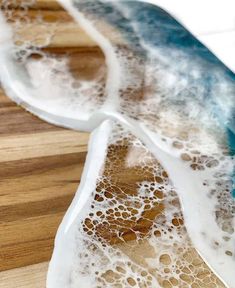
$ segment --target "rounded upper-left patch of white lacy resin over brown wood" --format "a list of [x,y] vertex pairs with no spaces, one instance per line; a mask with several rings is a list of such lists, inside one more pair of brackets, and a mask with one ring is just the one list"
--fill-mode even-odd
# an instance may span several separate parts
[[87,120],[105,100],[104,54],[97,46],[86,49],[76,45],[76,40],[67,41],[66,34],[91,42],[59,4],[56,12],[38,5],[35,0],[1,2],[12,32],[12,45],[3,58],[10,63],[3,65],[6,69],[15,67],[17,75],[10,71],[10,76],[17,77],[24,89],[22,95],[9,95],[32,112],[32,107],[39,108],[42,118],[43,113],[49,113]]

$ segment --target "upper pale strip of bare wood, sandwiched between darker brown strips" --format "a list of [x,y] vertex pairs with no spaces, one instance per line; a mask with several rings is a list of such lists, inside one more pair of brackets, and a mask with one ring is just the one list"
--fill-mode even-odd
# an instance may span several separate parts
[[88,138],[66,130],[0,137],[0,162],[85,152]]

